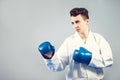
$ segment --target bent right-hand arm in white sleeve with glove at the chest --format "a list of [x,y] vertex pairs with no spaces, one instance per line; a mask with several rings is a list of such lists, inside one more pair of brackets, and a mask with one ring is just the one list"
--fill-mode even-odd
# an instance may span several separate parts
[[79,50],[74,51],[73,60],[96,68],[109,67],[113,64],[111,48],[103,37],[100,39],[97,51],[89,51],[84,47],[80,47]]

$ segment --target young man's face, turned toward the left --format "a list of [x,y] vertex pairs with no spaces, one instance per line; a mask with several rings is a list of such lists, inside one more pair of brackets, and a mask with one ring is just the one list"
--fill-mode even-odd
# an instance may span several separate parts
[[72,16],[71,23],[75,31],[84,33],[86,30],[88,30],[89,19],[84,19],[81,15],[77,15],[75,17]]

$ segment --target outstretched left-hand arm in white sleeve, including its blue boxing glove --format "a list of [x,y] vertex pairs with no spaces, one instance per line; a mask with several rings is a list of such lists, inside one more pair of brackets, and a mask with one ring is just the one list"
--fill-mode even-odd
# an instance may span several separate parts
[[68,64],[66,42],[62,44],[57,52],[50,42],[43,42],[39,45],[39,51],[44,57],[45,63],[52,71],[62,71]]

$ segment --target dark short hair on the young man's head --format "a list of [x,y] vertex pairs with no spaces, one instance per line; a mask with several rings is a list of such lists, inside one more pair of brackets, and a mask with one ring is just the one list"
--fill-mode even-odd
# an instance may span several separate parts
[[85,19],[89,19],[88,10],[85,8],[73,8],[70,11],[70,16],[82,15]]

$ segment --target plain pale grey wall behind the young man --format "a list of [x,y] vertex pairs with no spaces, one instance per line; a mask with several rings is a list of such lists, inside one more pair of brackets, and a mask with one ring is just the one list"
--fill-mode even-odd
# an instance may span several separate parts
[[56,49],[74,33],[69,11],[85,7],[90,29],[110,43],[114,64],[105,69],[103,80],[120,76],[119,0],[0,0],[0,80],[65,80],[63,72],[52,72],[38,52],[50,41]]

